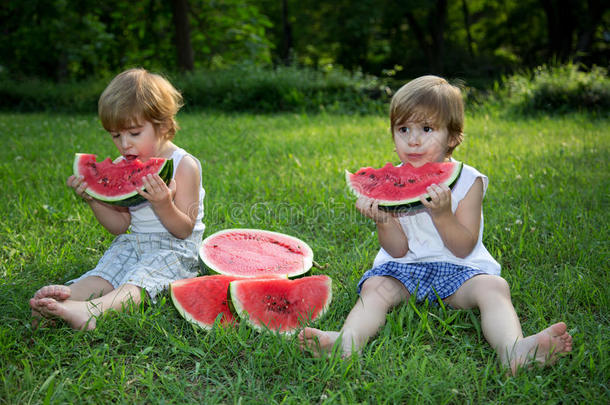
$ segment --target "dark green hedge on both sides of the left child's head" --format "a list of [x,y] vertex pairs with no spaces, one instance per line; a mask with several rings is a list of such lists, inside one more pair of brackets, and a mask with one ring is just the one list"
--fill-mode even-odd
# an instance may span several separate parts
[[[340,69],[315,71],[279,66],[242,65],[223,70],[199,69],[170,77],[186,109],[224,111],[345,111],[384,108],[388,93],[372,76]],[[9,111],[96,112],[109,79],[74,83],[0,79],[0,109]]]

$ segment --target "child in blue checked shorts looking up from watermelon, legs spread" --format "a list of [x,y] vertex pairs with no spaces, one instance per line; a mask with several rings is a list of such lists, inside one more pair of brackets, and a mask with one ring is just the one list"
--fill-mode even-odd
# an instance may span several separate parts
[[[392,98],[390,125],[402,164],[449,161],[463,140],[461,92],[436,76],[412,80]],[[484,174],[464,165],[453,189],[428,187],[430,201],[420,198],[424,209],[400,216],[359,197],[356,208],[375,221],[381,249],[358,283],[360,298],[341,330],[305,328],[299,334],[301,348],[320,355],[337,343],[344,355],[360,352],[387,312],[416,294],[417,302],[428,299],[434,305],[438,296],[454,308],[478,308],[485,338],[513,373],[532,362],[550,364],[557,354],[571,351],[572,337],[563,322],[523,337],[508,283],[482,242],[487,185]]]

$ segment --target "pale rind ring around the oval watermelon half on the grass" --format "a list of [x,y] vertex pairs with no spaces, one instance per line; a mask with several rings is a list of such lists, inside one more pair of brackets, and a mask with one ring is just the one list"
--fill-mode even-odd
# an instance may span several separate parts
[[278,273],[256,273],[256,274],[243,274],[243,273],[236,273],[234,271],[232,271],[232,269],[230,268],[222,268],[219,265],[215,264],[214,261],[208,257],[208,255],[205,252],[205,246],[206,244],[212,243],[213,240],[219,236],[225,235],[225,234],[231,234],[231,233],[249,233],[249,234],[259,234],[259,235],[263,235],[263,236],[267,236],[267,237],[276,237],[276,238],[281,238],[281,239],[288,239],[291,240],[292,242],[296,243],[305,253],[303,255],[303,265],[300,268],[295,268],[294,270],[287,272],[287,273],[283,273],[283,274],[279,274],[281,276],[285,276],[288,278],[297,278],[297,277],[304,277],[308,274],[310,274],[311,268],[313,266],[313,250],[309,247],[309,245],[307,243],[305,243],[303,240],[296,238],[294,236],[291,235],[287,235],[284,233],[280,233],[280,232],[273,232],[273,231],[268,231],[268,230],[263,230],[263,229],[251,229],[251,228],[230,228],[230,229],[223,229],[221,231],[215,232],[213,234],[211,234],[210,236],[206,237],[203,242],[201,243],[201,246],[199,247],[199,266],[201,268],[201,271],[205,274],[225,274],[225,275],[229,275],[229,276],[240,276],[240,277],[260,277],[260,276],[265,276],[265,275],[277,275]]

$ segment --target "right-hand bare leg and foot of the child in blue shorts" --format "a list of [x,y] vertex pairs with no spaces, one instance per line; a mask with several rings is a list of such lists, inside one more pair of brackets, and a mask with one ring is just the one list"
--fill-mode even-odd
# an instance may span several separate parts
[[521,323],[513,307],[506,280],[488,274],[466,281],[445,302],[454,308],[478,307],[481,329],[502,364],[514,373],[519,366],[537,361],[551,363],[557,353],[572,350],[572,336],[563,322],[556,323],[535,335],[523,337]]

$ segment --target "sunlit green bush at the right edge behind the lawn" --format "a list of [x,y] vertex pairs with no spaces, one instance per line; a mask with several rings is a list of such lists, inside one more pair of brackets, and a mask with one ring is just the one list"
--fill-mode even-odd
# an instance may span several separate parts
[[499,100],[522,113],[596,110],[610,108],[608,71],[576,64],[539,66],[532,72],[504,78]]

